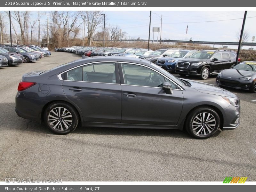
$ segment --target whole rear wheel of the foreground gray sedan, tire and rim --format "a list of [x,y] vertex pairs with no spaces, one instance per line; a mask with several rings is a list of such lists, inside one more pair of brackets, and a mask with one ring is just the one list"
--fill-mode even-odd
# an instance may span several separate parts
[[79,114],[70,104],[56,102],[45,109],[44,122],[51,132],[65,135],[76,129],[79,123]]

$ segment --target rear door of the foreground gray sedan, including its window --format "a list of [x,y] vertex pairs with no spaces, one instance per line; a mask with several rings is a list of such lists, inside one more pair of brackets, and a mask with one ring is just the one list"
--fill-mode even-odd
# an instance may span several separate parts
[[84,122],[121,122],[121,85],[117,63],[86,64],[66,71],[62,87],[83,114]]

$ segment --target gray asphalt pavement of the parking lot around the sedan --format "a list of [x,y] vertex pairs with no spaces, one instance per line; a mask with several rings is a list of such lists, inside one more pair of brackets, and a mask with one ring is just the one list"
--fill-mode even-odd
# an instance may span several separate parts
[[[256,181],[256,93],[228,89],[241,100],[241,125],[207,140],[153,129],[79,127],[68,135],[55,135],[45,125],[16,115],[22,74],[79,58],[52,52],[35,63],[0,68],[0,181],[223,181],[235,176]],[[214,84],[215,78],[204,82]]]

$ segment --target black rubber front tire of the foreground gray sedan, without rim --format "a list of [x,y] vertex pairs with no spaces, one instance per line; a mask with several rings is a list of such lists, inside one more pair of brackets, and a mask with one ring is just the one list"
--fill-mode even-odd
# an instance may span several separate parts
[[[214,130],[209,133],[208,135],[205,136],[201,136],[201,135],[197,135],[193,129],[192,129],[192,121],[193,119],[199,114],[199,113],[203,113],[203,112],[207,112],[207,113],[211,113],[215,120],[216,120],[216,124],[217,126],[215,126]],[[212,108],[208,108],[208,107],[204,107],[204,108],[197,108],[195,110],[193,110],[192,112],[190,112],[190,114],[188,115],[187,121],[186,121],[186,129],[188,131],[188,133],[193,136],[194,138],[197,139],[207,139],[212,137],[212,135],[214,135],[214,133],[219,129],[220,127],[220,116],[218,115],[218,113],[213,110]]]

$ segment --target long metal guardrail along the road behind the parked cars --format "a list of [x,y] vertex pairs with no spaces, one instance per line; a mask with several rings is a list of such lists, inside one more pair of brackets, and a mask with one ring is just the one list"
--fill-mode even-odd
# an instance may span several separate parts
[[[103,40],[93,40],[93,41],[103,41]],[[122,39],[122,40],[105,40],[105,42],[130,42],[130,41],[142,41],[142,42],[148,42],[148,39]],[[152,42],[152,39],[149,40],[149,42]],[[157,42],[156,39],[154,39],[154,42]],[[158,40],[158,42],[161,43],[188,43],[188,44],[211,44],[213,45],[237,45],[238,42],[215,42],[215,41],[180,41],[180,40]],[[256,43],[242,43],[243,46],[256,46]]]

